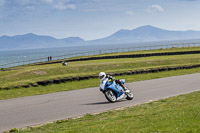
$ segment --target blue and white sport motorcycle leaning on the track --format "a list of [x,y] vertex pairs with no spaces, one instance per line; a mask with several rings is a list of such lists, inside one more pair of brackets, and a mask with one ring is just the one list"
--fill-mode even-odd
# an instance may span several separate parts
[[112,80],[106,84],[103,93],[109,102],[114,103],[120,99],[133,99],[132,91],[128,87],[125,87],[124,83],[125,79],[121,79],[117,81]]

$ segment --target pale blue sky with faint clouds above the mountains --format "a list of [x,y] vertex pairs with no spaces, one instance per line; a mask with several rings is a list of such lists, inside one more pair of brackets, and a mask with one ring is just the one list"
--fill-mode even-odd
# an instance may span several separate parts
[[0,36],[93,40],[144,25],[200,31],[200,0],[0,0]]

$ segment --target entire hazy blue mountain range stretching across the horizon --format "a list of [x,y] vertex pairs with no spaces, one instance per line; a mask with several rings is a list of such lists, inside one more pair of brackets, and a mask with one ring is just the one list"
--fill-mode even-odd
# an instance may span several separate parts
[[200,31],[169,31],[146,25],[133,30],[121,29],[108,37],[90,41],[86,41],[80,37],[56,39],[51,36],[41,36],[33,33],[16,36],[1,36],[0,50],[52,48],[69,45],[139,43],[187,39],[200,39]]

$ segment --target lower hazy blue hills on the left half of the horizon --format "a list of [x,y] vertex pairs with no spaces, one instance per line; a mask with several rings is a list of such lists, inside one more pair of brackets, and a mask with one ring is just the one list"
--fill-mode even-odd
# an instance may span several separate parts
[[0,50],[64,47],[68,45],[80,45],[84,42],[80,37],[56,39],[51,36],[40,36],[29,33],[12,37],[0,37]]

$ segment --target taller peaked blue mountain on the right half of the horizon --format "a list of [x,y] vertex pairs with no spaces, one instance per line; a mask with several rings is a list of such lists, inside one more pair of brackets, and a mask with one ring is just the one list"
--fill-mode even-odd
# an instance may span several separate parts
[[122,29],[108,37],[92,40],[90,43],[114,44],[187,39],[200,39],[200,31],[169,31],[147,25],[133,30]]

